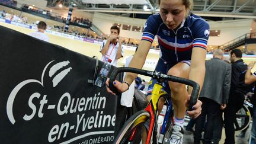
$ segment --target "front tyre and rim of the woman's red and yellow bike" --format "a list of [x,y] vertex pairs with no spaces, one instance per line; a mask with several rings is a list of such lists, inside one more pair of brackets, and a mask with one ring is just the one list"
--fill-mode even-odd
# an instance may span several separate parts
[[[123,125],[123,127],[120,130],[120,133],[116,136],[113,143],[119,144],[119,143],[139,143],[142,137],[139,135],[137,136],[136,140],[130,141],[129,137],[132,135],[133,130],[135,129],[141,129],[142,127],[146,128],[146,131],[149,129],[149,124],[147,124],[147,121],[150,119],[150,114],[148,111],[141,110],[137,111],[137,113],[133,114]],[[139,131],[137,131],[139,133]],[[139,142],[138,142],[138,139]]]

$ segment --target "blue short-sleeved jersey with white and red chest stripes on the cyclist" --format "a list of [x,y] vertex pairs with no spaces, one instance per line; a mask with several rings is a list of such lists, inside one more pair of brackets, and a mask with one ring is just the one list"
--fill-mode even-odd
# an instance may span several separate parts
[[160,14],[155,14],[146,21],[142,40],[152,43],[157,36],[162,52],[161,58],[166,62],[177,63],[182,60],[191,60],[193,47],[206,49],[209,34],[207,21],[192,13],[183,20],[176,31],[164,24]]

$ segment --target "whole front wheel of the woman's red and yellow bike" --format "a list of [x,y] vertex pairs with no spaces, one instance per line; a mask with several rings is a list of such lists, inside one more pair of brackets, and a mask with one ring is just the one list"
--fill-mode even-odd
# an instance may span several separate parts
[[[142,136],[146,137],[149,129],[150,114],[141,110],[133,114],[120,130],[120,133],[114,139],[114,143],[140,143]],[[142,133],[145,133],[142,135]]]

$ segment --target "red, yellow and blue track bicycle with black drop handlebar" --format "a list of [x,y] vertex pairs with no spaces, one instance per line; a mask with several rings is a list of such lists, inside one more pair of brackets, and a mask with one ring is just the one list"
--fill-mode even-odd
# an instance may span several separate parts
[[[161,84],[164,80],[179,82],[181,84],[190,85],[193,87],[191,94],[191,99],[189,102],[188,110],[192,110],[194,104],[197,101],[197,95],[199,94],[199,84],[189,79],[178,78],[176,76],[166,75],[161,72],[156,71],[145,71],[143,69],[122,67],[115,69],[110,76],[109,87],[117,95],[120,92],[116,91],[114,88],[113,81],[116,78],[117,73],[120,72],[132,72],[140,75],[151,76],[158,82],[153,86],[152,97],[149,101],[148,106],[141,111],[133,114],[120,130],[120,133],[114,140],[114,143],[140,143],[142,136],[145,137],[146,143],[169,143],[169,137],[171,136],[171,127],[173,123],[172,116],[174,114],[172,110],[171,98],[165,92],[161,92]],[[159,98],[164,97],[167,103],[167,112],[164,117],[164,122],[162,124],[161,132],[157,136],[157,111],[158,111],[158,101]],[[146,132],[146,136],[142,133]]]

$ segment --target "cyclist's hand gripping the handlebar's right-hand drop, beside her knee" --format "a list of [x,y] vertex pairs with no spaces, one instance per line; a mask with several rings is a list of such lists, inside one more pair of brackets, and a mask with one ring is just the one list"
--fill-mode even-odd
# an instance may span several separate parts
[[[191,95],[188,95],[187,100],[185,101],[185,105],[188,107],[188,103],[190,100]],[[197,103],[193,105],[193,110],[192,111],[187,111],[187,115],[192,117],[192,118],[197,118],[201,114],[201,105],[203,103],[200,100],[197,100]]]

